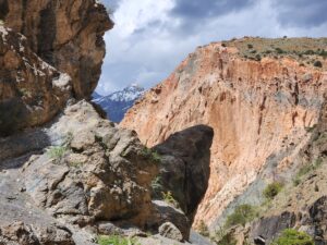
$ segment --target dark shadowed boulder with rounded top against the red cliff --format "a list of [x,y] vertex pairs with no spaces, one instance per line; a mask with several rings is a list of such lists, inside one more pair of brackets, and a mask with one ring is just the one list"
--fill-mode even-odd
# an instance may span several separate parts
[[207,191],[213,137],[211,127],[197,125],[154,147],[161,158],[159,177],[164,192],[172,193],[190,223]]

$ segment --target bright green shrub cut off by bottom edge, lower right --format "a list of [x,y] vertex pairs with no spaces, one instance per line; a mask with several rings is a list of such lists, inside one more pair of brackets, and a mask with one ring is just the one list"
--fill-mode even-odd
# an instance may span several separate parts
[[271,245],[314,245],[313,238],[304,233],[293,229],[286,229],[281,235],[275,240]]

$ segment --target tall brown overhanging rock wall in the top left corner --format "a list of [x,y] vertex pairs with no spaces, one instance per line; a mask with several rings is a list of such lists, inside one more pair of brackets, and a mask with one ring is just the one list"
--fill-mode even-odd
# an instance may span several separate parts
[[23,34],[27,46],[58,71],[68,73],[76,98],[95,89],[105,57],[105,32],[112,28],[96,0],[0,1],[0,20]]

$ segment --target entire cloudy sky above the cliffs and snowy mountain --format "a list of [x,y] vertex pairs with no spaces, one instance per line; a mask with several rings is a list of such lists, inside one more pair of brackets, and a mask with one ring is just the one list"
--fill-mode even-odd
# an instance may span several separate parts
[[149,88],[197,46],[243,36],[322,37],[327,0],[102,0],[113,12],[97,91]]

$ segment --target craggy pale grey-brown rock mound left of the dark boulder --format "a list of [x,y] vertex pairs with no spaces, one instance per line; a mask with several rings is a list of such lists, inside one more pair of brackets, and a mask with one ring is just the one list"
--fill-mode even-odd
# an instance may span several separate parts
[[113,127],[84,101],[68,108],[49,132],[63,143],[23,169],[34,201],[80,225],[119,219],[143,226],[157,167],[142,155],[135,133]]

